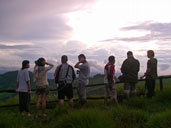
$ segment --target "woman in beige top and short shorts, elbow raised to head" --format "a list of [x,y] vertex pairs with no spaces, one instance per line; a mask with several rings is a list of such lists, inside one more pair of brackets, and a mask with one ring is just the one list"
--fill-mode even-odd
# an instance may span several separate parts
[[[35,118],[38,117],[40,103],[42,103],[42,116],[46,117],[46,98],[49,93],[49,83],[47,80],[47,72],[53,68],[53,64],[47,63],[44,58],[39,58],[35,61],[34,67],[34,77],[33,80],[36,82],[36,94],[37,94],[37,103],[36,103],[36,114]],[[45,67],[45,65],[48,65]]]

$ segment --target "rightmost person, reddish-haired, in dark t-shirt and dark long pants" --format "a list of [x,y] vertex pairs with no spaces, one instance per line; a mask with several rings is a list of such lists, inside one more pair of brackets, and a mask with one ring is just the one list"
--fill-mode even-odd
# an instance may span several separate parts
[[144,73],[143,77],[146,78],[145,86],[147,88],[147,97],[152,98],[155,94],[155,80],[157,79],[157,59],[154,58],[154,51],[148,50],[147,57],[149,60],[147,61],[147,70]]

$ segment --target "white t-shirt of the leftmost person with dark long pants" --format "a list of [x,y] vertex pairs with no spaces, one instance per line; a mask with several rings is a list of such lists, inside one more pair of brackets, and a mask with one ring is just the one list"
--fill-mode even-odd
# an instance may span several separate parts
[[27,69],[21,69],[18,71],[17,82],[19,83],[18,90],[19,92],[28,92],[27,81],[30,80],[29,72]]

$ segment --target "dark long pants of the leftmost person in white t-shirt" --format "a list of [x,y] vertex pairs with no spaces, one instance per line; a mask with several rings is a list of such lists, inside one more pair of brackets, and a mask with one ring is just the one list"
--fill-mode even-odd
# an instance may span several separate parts
[[28,92],[19,92],[19,109],[20,112],[29,112],[30,94]]

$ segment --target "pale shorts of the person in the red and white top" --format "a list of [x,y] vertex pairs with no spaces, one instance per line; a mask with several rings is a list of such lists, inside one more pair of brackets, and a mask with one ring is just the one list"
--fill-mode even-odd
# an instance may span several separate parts
[[105,84],[105,90],[104,90],[104,97],[108,98],[110,96],[111,99],[117,98],[117,91],[116,91],[116,85],[115,84]]

